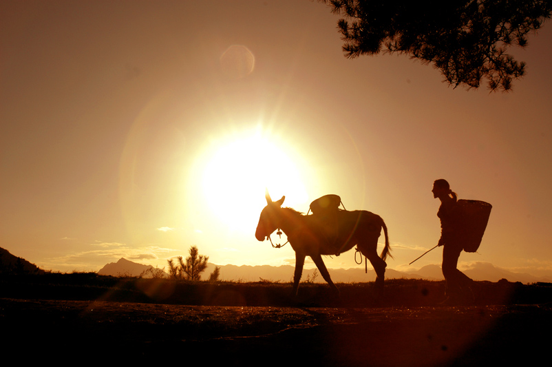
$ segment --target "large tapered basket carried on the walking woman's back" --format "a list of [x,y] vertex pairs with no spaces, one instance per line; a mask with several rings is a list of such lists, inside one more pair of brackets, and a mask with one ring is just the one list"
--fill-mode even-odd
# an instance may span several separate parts
[[464,251],[476,252],[489,222],[492,205],[480,200],[460,199],[457,202],[462,212]]

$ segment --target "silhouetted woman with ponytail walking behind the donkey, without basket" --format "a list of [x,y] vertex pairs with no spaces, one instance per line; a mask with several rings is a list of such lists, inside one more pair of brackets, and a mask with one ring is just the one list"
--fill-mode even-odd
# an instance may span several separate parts
[[460,207],[456,202],[456,193],[450,189],[449,182],[440,179],[433,184],[434,198],[441,202],[437,216],[440,219],[441,236],[438,242],[443,246],[443,276],[446,281],[445,302],[462,302],[473,300],[471,280],[467,275],[456,269],[460,252],[464,247],[462,217]]

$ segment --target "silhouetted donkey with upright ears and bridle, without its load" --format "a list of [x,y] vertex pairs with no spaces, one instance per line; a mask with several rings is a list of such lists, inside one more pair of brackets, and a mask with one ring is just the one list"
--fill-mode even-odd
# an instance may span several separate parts
[[[303,273],[306,256],[310,256],[315,262],[323,279],[337,293],[339,290],[332,282],[330,273],[322,260],[322,255],[339,255],[349,251],[357,245],[357,249],[370,260],[376,271],[376,286],[383,286],[385,278],[385,259],[392,255],[389,246],[388,230],[380,216],[370,211],[337,211],[334,217],[337,221],[335,235],[329,235],[324,228],[327,222],[321,221],[315,215],[304,215],[295,209],[282,207],[284,199],[272,201],[268,192],[266,193],[266,207],[261,212],[259,224],[255,231],[255,238],[259,241],[270,239],[270,234],[276,229],[282,229],[288,237],[288,242],[295,251],[295,274],[293,277],[293,295],[297,295],[299,280]],[[385,233],[385,247],[381,255],[377,254],[378,238],[381,229]]]

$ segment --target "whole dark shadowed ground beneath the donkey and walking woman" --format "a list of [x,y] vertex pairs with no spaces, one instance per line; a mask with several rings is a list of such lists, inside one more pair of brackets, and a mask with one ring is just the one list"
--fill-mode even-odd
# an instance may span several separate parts
[[[48,278],[49,277],[49,278]],[[551,284],[477,282],[442,306],[443,282],[171,282],[92,274],[3,277],[6,359],[80,364],[483,366],[542,363]]]

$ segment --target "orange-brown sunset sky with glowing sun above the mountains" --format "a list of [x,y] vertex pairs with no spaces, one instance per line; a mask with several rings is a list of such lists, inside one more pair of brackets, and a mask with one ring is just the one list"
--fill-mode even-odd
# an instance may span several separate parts
[[268,187],[305,213],[326,193],[378,213],[388,266],[418,269],[440,264],[407,265],[437,244],[445,178],[493,205],[462,266],[551,274],[551,22],[512,49],[527,76],[502,93],[407,56],[346,59],[338,19],[309,0],[1,1],[0,247],[63,272],[162,268],[191,245],[293,264],[255,240]]

